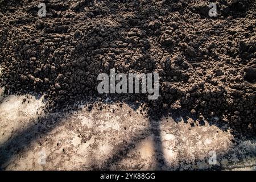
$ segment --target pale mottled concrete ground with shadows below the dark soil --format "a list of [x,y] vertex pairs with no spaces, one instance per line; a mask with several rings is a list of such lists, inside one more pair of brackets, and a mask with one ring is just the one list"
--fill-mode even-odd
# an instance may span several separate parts
[[255,140],[234,143],[229,130],[206,121],[150,121],[127,104],[43,114],[42,99],[24,98],[1,98],[0,169],[256,169]]

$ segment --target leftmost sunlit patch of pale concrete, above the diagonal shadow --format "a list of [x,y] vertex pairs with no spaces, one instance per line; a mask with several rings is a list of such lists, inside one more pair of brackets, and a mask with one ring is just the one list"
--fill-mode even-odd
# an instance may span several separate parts
[[34,125],[42,113],[42,98],[34,96],[8,96],[0,104],[0,144],[13,137],[18,131]]

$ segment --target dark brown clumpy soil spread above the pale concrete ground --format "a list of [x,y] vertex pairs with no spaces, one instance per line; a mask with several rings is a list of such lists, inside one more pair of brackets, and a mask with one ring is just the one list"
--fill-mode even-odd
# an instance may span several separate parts
[[[160,96],[113,94],[152,113],[188,110],[253,133],[255,2],[0,1],[1,87],[71,106],[98,94],[99,73],[159,73]],[[46,17],[38,16],[46,3]],[[109,96],[108,96],[109,97]],[[157,112],[154,111],[157,109]],[[156,115],[156,114],[155,114]]]

